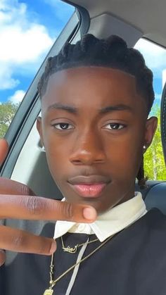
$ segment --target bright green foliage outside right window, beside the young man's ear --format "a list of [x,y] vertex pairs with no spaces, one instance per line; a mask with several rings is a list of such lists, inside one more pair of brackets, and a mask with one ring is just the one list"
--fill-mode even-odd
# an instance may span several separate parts
[[158,117],[158,128],[151,146],[144,156],[144,170],[149,180],[166,180],[165,160],[162,152],[160,107],[154,106],[152,115]]

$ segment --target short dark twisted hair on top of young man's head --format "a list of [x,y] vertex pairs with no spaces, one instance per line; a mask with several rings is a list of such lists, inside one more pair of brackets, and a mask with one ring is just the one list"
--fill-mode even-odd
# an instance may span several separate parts
[[134,75],[137,91],[146,100],[147,111],[151,111],[154,100],[153,74],[146,67],[141,53],[128,48],[126,42],[115,35],[98,39],[85,34],[76,44],[65,44],[57,56],[48,58],[46,68],[38,84],[39,95],[46,92],[49,77],[60,70],[81,66],[115,68]]

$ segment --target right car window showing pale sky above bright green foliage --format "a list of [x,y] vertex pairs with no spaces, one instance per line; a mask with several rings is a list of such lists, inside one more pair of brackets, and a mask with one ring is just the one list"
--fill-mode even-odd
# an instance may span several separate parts
[[140,39],[136,43],[136,49],[143,54],[146,64],[153,71],[153,87],[155,91],[155,102],[150,115],[158,117],[158,129],[155,133],[153,143],[144,156],[144,170],[150,180],[165,180],[165,161],[162,153],[162,143],[160,136],[160,100],[162,88],[166,82],[166,49]]

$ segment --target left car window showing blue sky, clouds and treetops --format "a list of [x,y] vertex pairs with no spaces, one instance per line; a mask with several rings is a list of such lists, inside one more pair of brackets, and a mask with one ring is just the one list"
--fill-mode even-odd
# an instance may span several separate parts
[[0,138],[74,7],[60,0],[0,3]]

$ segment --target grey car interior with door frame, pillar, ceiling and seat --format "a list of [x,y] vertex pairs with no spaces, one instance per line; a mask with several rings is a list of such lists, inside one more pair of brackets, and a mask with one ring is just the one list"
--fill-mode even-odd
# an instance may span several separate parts
[[[65,25],[49,51],[54,56],[65,42],[75,43],[87,32],[104,38],[117,34],[129,46],[140,38],[166,47],[166,1],[159,0],[73,0],[65,1],[75,6],[75,13]],[[46,163],[35,120],[40,113],[37,83],[44,71],[46,60],[34,77],[30,88],[13,118],[6,139],[10,149],[6,161],[0,168],[0,175],[27,184],[38,196],[61,199],[62,196],[53,182]],[[166,85],[161,100],[161,137],[166,160]],[[166,214],[166,182],[149,180],[141,193],[148,209],[159,208]],[[140,190],[136,184],[136,191]]]

